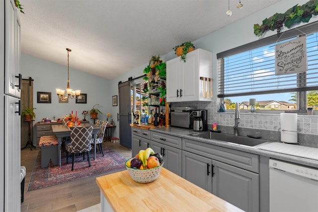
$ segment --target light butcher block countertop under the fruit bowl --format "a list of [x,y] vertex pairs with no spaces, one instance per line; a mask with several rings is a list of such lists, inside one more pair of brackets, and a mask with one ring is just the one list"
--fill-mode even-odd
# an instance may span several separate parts
[[97,177],[96,183],[114,212],[242,212],[165,168],[151,183],[135,182],[127,170]]

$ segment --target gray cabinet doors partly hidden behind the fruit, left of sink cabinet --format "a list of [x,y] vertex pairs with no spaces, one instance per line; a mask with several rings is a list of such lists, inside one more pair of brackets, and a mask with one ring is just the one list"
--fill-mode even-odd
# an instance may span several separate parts
[[163,167],[173,172],[174,174],[182,176],[182,150],[172,146],[168,146],[156,141],[151,141],[150,147],[155,151],[159,152],[163,156],[164,164]]

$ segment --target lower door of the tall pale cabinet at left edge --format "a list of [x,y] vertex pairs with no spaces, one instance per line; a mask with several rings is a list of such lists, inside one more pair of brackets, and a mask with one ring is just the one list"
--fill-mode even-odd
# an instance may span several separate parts
[[[20,205],[19,99],[4,95],[4,211],[17,212]],[[8,153],[8,154],[6,154]]]

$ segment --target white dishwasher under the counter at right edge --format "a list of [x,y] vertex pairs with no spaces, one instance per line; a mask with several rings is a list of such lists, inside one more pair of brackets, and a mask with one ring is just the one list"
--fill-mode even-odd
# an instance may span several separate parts
[[270,212],[318,212],[318,169],[269,160]]

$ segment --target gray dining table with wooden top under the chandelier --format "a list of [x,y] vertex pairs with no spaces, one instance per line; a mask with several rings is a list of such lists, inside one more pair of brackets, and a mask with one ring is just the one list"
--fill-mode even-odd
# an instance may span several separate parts
[[[87,126],[93,126],[90,123],[81,123],[77,127],[87,127]],[[96,137],[97,133],[99,131],[100,127],[98,126],[93,126],[93,133],[92,136],[94,137],[94,160],[96,159]],[[59,158],[59,166],[61,167],[61,145],[62,145],[62,137],[69,137],[71,136],[71,130],[68,126],[65,124],[59,124],[59,125],[52,125],[52,131],[58,138],[58,158]]]

